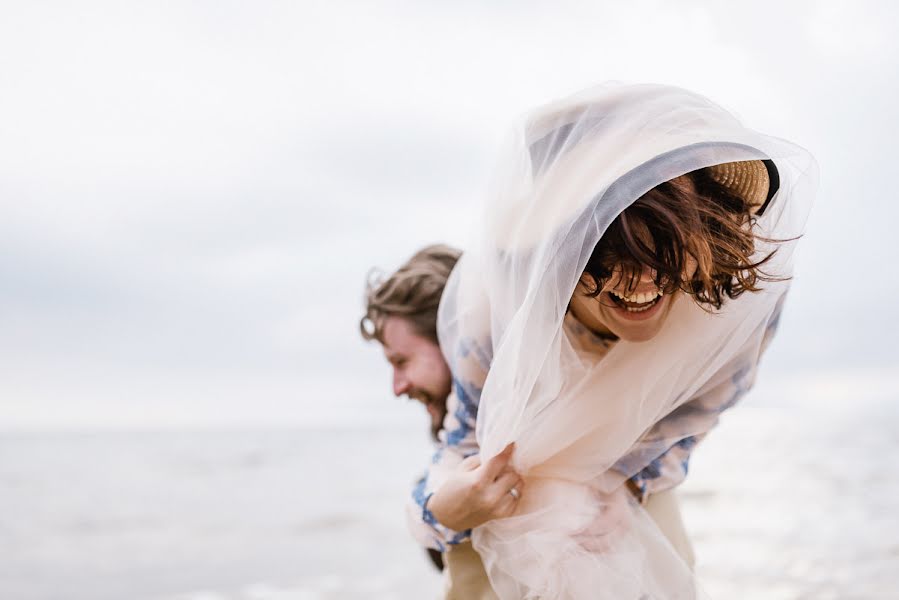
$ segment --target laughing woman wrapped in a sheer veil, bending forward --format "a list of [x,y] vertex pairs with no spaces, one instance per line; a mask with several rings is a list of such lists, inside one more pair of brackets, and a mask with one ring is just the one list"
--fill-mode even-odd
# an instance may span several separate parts
[[689,548],[641,504],[659,457],[682,479],[752,385],[814,161],[697,94],[622,84],[538,109],[505,158],[439,334],[484,467],[515,443],[490,474],[508,489],[472,496],[473,459],[426,509],[473,529],[503,600],[693,598]]

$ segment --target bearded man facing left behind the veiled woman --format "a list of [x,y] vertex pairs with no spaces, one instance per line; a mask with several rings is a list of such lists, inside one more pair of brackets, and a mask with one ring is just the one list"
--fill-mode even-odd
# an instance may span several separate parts
[[[409,499],[407,515],[412,534],[432,559],[435,554],[438,559],[443,554],[447,600],[495,600],[481,559],[468,541],[469,532],[456,534],[448,542],[441,540],[435,529],[440,525],[427,510],[424,495],[432,482],[465,464],[471,482],[466,490],[467,510],[497,518],[509,512],[507,505],[512,499],[504,485],[510,477],[518,483],[517,475],[508,467],[511,451],[478,464],[474,431],[456,418],[460,407],[437,341],[437,308],[460,254],[449,246],[427,246],[388,277],[370,281],[360,326],[363,338],[381,344],[393,371],[393,393],[417,400],[430,415],[437,452],[426,477]],[[506,479],[498,483],[500,474]]]

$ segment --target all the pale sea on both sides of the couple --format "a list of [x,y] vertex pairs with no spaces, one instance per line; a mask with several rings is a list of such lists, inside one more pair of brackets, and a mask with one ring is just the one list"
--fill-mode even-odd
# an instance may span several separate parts
[[[899,598],[899,403],[740,406],[680,488],[711,598]],[[417,429],[0,435],[0,598],[438,598]]]

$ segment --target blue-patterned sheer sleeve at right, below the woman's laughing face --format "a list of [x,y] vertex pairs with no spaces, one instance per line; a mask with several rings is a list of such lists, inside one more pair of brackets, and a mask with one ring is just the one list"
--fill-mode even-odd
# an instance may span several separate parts
[[[630,477],[641,501],[680,484],[689,471],[696,445],[755,383],[759,360],[777,331],[783,300],[768,321],[761,343],[741,353],[696,397],[660,420],[625,455],[614,470]],[[645,465],[645,466],[643,466]]]

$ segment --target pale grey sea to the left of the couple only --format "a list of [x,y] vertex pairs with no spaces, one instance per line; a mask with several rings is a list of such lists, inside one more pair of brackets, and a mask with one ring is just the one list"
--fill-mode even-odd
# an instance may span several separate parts
[[422,598],[419,431],[0,437],[0,598]]

